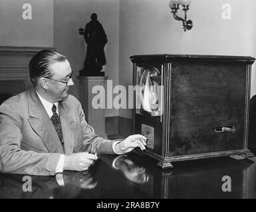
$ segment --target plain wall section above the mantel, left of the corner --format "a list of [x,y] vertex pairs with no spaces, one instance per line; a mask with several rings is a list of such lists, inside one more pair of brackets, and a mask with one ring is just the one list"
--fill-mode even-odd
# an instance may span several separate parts
[[[25,3],[32,19],[23,19]],[[53,47],[53,0],[1,0],[0,26],[0,46]]]

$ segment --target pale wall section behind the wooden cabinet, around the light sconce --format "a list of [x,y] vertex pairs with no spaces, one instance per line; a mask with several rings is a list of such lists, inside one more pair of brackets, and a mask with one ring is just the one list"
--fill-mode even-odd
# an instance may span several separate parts
[[[222,5],[231,5],[231,20],[221,17]],[[134,54],[219,54],[256,57],[256,21],[253,0],[192,0],[188,18],[193,28],[184,32],[174,20],[169,0],[120,0],[119,83],[132,85]],[[241,10],[243,8],[243,10]],[[255,64],[251,93],[256,93]],[[132,117],[131,110],[120,110]]]

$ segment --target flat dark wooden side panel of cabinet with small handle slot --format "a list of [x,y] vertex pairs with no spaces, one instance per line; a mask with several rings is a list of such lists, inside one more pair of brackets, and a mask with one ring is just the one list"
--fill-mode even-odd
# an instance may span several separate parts
[[176,63],[171,78],[170,156],[243,149],[245,64]]

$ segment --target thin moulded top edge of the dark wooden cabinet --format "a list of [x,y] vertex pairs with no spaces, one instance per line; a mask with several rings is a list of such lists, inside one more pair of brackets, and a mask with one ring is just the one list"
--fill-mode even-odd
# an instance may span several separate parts
[[130,56],[133,60],[238,60],[254,62],[250,56],[201,55],[201,54],[142,54]]

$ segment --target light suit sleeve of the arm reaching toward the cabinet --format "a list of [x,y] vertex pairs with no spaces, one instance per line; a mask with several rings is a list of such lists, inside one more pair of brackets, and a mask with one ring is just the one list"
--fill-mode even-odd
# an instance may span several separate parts
[[97,136],[94,129],[86,123],[84,112],[80,102],[78,103],[78,113],[82,125],[83,138],[76,147],[75,152],[94,152],[97,154],[115,154],[113,151],[113,142],[122,140],[107,140]]

